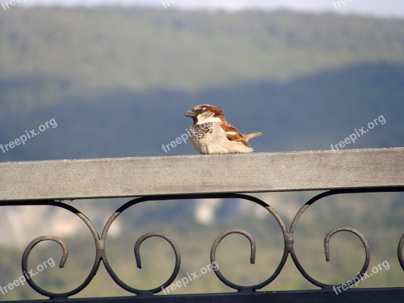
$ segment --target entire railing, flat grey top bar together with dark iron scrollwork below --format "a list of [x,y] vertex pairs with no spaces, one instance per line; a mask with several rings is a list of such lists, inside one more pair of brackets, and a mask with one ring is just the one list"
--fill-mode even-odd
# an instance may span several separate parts
[[[293,161],[290,161],[293,159]],[[153,161],[152,161],[153,160]],[[113,162],[113,163],[111,163]],[[173,164],[174,163],[174,164]],[[195,183],[195,177],[188,172],[187,166],[190,164],[198,163],[202,167],[207,168],[207,174],[199,174],[198,184]],[[223,165],[224,163],[224,165]],[[237,163],[239,166],[234,166]],[[90,281],[94,278],[101,262],[103,262],[107,272],[111,278],[121,288],[136,294],[135,297],[120,297],[119,300],[132,300],[133,298],[145,300],[177,300],[181,295],[170,295],[162,298],[161,296],[150,296],[151,294],[159,293],[176,279],[180,265],[181,256],[180,251],[173,241],[173,239],[161,232],[150,232],[142,235],[134,245],[134,255],[138,268],[141,268],[140,246],[141,243],[150,237],[161,237],[167,240],[174,250],[175,266],[171,276],[163,284],[153,289],[137,289],[127,285],[123,282],[112,269],[107,254],[106,254],[106,239],[108,231],[112,223],[117,217],[128,208],[151,200],[173,200],[173,199],[194,199],[194,198],[238,198],[249,200],[263,208],[265,208],[278,222],[284,241],[283,256],[276,270],[263,282],[255,285],[238,285],[231,282],[226,278],[219,268],[215,270],[216,276],[227,286],[238,290],[240,296],[233,294],[199,294],[196,297],[187,297],[182,295],[181,300],[236,300],[244,301],[247,298],[255,298],[256,300],[265,299],[268,292],[259,291],[263,287],[269,285],[282,271],[289,255],[301,275],[310,281],[312,284],[318,286],[323,290],[321,294],[306,291],[304,293],[296,292],[277,292],[282,296],[273,297],[280,300],[295,300],[297,297],[310,295],[313,301],[315,300],[336,300],[333,290],[340,285],[330,285],[314,279],[310,276],[303,266],[298,261],[294,250],[293,235],[295,232],[296,224],[301,215],[316,201],[321,198],[345,193],[365,193],[365,192],[392,192],[404,191],[404,148],[391,148],[391,149],[369,149],[369,150],[345,150],[339,153],[332,153],[330,151],[316,151],[316,152],[300,152],[300,153],[278,153],[278,154],[253,154],[253,155],[212,155],[212,156],[184,156],[184,157],[156,157],[156,158],[126,158],[126,159],[102,159],[102,160],[71,160],[71,161],[44,161],[44,162],[24,162],[24,163],[0,163],[0,206],[6,205],[48,205],[67,210],[77,217],[79,217],[85,225],[89,228],[95,244],[95,259],[90,273],[87,278],[76,288],[66,292],[52,292],[39,287],[35,283],[35,278],[27,279],[27,283],[38,293],[54,298],[56,300],[65,300],[66,298],[79,293],[83,290]],[[228,166],[226,166],[226,164]],[[231,164],[231,165],[230,165]],[[164,176],[165,167],[169,165],[171,176]],[[173,165],[175,167],[173,167]],[[221,165],[218,171],[217,165]],[[93,166],[93,167],[91,167]],[[252,166],[252,168],[251,168]],[[286,166],[286,167],[285,167]],[[313,169],[313,166],[316,169]],[[89,172],[88,169],[91,168]],[[309,168],[309,170],[305,170]],[[110,168],[112,171],[108,171]],[[160,168],[160,172],[159,169]],[[177,168],[177,170],[175,170]],[[178,169],[180,168],[180,169]],[[105,172],[104,175],[93,175],[94,170],[98,173]],[[133,169],[133,171],[132,171]],[[277,173],[278,178],[271,179],[262,173],[267,172],[270,176]],[[303,170],[303,171],[301,171]],[[335,170],[337,170],[336,174]],[[74,179],[69,178],[72,171],[79,177]],[[327,179],[329,172],[333,171],[334,179]],[[174,175],[173,175],[173,172]],[[209,174],[210,172],[210,174]],[[310,172],[314,175],[310,175]],[[366,178],[361,178],[361,181],[352,183],[352,179],[356,176],[367,172]],[[292,173],[292,174],[291,174]],[[163,175],[161,175],[163,174]],[[126,187],[128,184],[127,178],[120,178],[126,176],[129,181],[135,184],[135,187]],[[223,183],[223,176],[233,176],[229,188]],[[306,176],[306,179],[302,177]],[[110,178],[109,178],[110,177]],[[151,181],[153,183],[139,183],[141,181]],[[189,179],[187,179],[189,178]],[[202,179],[202,180],[201,180]],[[267,183],[262,182],[262,179]],[[337,179],[337,180],[335,180]],[[70,180],[70,181],[69,181]],[[71,181],[74,180],[74,181]],[[90,180],[90,181],[89,181]],[[155,183],[160,181],[160,183]],[[228,179],[227,179],[228,180]],[[248,180],[248,182],[247,182]],[[255,182],[253,188],[248,190],[248,184]],[[120,183],[121,181],[121,183]],[[186,181],[188,184],[184,183]],[[25,183],[24,183],[25,182]],[[61,182],[61,183],[58,183]],[[102,184],[105,182],[104,184]],[[215,184],[216,182],[216,184]],[[350,185],[349,185],[349,182]],[[162,184],[163,183],[163,184]],[[246,185],[247,183],[247,185]],[[63,184],[63,185],[61,185]],[[102,184],[102,186],[100,186]],[[209,186],[201,187],[200,184],[210,184]],[[168,186],[170,185],[170,186]],[[217,185],[217,186],[215,186]],[[15,188],[19,187],[16,192]],[[47,186],[48,190],[32,192],[32,186]],[[37,187],[34,187],[37,188]],[[49,190],[50,188],[50,190]],[[73,188],[73,190],[72,190]],[[106,194],[105,189],[109,190]],[[129,189],[128,189],[129,188]],[[98,190],[99,189],[99,190]],[[322,192],[312,199],[310,199],[295,215],[292,223],[287,229],[277,212],[265,201],[250,196],[247,194],[240,194],[240,191],[283,191],[283,190],[327,190]],[[165,194],[162,193],[165,191]],[[100,192],[100,193],[99,193]],[[213,192],[213,193],[207,193]],[[233,193],[234,192],[234,193]],[[74,194],[72,194],[74,193]],[[131,199],[109,218],[107,224],[99,236],[94,224],[80,211],[69,204],[63,203],[63,199],[79,198],[95,198],[95,197],[122,197],[122,196],[136,196],[143,195],[138,198]],[[367,240],[362,233],[354,228],[342,226],[336,227],[328,232],[324,239],[324,248],[326,260],[330,260],[329,254],[329,241],[330,238],[337,232],[348,231],[354,233],[362,241],[366,257],[362,270],[355,275],[351,280],[359,281],[366,274],[370,264],[370,247]],[[218,263],[216,260],[216,249],[223,238],[232,233],[238,233],[245,236],[250,242],[250,263],[255,263],[256,244],[255,239],[246,231],[240,229],[229,229],[222,232],[214,241],[211,249],[210,260],[211,263]],[[25,249],[22,257],[22,271],[23,273],[29,272],[28,258],[34,246],[41,241],[55,241],[59,243],[63,249],[62,258],[59,267],[63,267],[68,257],[68,247],[64,241],[56,236],[41,236],[34,239]],[[404,234],[401,236],[397,246],[397,257],[401,268],[404,270],[403,248]],[[351,285],[350,285],[351,286]],[[378,299],[384,295],[389,298],[398,298],[404,294],[401,288],[387,288],[387,289],[368,289],[367,293],[357,289],[356,291],[348,292],[349,297],[360,299],[366,298],[368,295],[378,291]],[[332,294],[330,294],[332,292]],[[274,295],[274,293],[272,293]],[[329,296],[328,296],[329,295]],[[109,298],[111,300],[113,298]],[[118,298],[116,298],[118,300]],[[73,300],[73,299],[71,299]],[[77,300],[77,299],[74,299]],[[88,299],[87,299],[88,300]],[[101,299],[94,299],[96,301]]]

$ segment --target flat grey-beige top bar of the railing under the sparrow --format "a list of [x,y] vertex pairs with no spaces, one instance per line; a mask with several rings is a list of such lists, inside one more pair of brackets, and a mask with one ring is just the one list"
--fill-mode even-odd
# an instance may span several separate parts
[[0,200],[404,186],[404,147],[0,163]]

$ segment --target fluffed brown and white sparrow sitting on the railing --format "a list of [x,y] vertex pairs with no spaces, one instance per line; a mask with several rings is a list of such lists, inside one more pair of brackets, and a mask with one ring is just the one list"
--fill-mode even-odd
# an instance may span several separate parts
[[198,105],[187,111],[193,124],[190,140],[200,154],[251,153],[248,140],[265,133],[252,131],[241,134],[226,121],[220,108],[208,104]]

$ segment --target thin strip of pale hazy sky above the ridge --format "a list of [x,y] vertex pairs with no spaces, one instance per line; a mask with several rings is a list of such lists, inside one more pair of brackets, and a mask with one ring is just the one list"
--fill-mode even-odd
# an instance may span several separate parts
[[[224,9],[238,11],[245,8],[265,10],[289,8],[299,11],[329,11],[341,14],[364,14],[404,18],[404,0],[21,0],[24,5],[141,5],[164,9]],[[345,3],[344,5],[342,4]]]

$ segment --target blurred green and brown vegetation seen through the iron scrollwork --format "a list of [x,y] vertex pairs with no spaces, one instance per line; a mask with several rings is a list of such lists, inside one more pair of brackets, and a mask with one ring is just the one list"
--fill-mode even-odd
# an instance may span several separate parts
[[[298,209],[316,192],[263,193],[258,197],[270,203],[289,229],[291,219]],[[126,200],[126,199],[125,199]],[[106,203],[107,202],[107,203]],[[237,200],[223,203],[212,224],[201,225],[193,220],[193,201],[148,202],[125,211],[114,224],[120,224],[120,232],[107,237],[106,252],[116,274],[132,287],[147,289],[162,284],[174,268],[174,254],[169,244],[161,238],[147,239],[140,247],[142,269],[137,269],[133,255],[136,240],[144,233],[161,231],[169,235],[181,252],[181,269],[177,279],[206,267],[210,249],[216,237],[229,228],[249,232],[257,242],[256,264],[249,264],[249,242],[241,235],[230,235],[222,240],[217,249],[217,262],[221,272],[234,283],[252,285],[266,280],[275,271],[283,253],[283,238],[276,220],[252,203],[239,204]],[[105,222],[99,222],[94,213],[112,214],[108,200],[76,200],[71,205],[83,210],[89,219],[98,223],[100,232]],[[381,207],[381,205],[383,207]],[[94,212],[97,210],[97,212]],[[392,210],[394,216],[391,216]],[[261,213],[260,216],[254,214]],[[147,219],[144,218],[147,214]],[[387,260],[389,269],[361,281],[359,287],[401,286],[402,272],[396,255],[398,240],[402,235],[402,194],[372,193],[348,194],[322,199],[312,205],[300,218],[294,233],[295,252],[300,264],[315,279],[324,283],[344,283],[361,270],[365,252],[362,242],[347,232],[340,232],[330,240],[330,262],[324,258],[324,237],[331,229],[349,226],[358,229],[368,240],[371,248],[369,272],[374,266]],[[49,213],[53,218],[54,214]],[[143,217],[143,218],[142,218]],[[161,219],[161,218],[166,218]],[[39,219],[39,218],[38,218]],[[55,218],[57,220],[57,218]],[[143,220],[142,220],[143,219]],[[31,222],[34,218],[31,218]],[[43,219],[41,219],[43,221]],[[27,220],[27,224],[29,225]],[[24,223],[25,225],[25,223]],[[63,269],[55,266],[35,276],[35,282],[46,289],[68,291],[77,287],[91,270],[95,250],[94,241],[84,224],[79,223],[75,237],[61,236],[49,229],[48,234],[61,236],[69,247],[69,257]],[[115,235],[114,235],[115,234]],[[31,239],[20,248],[1,249],[3,273],[0,285],[4,286],[21,275],[20,258]],[[58,265],[61,247],[56,243],[40,243],[31,252],[29,267],[53,258]],[[295,268],[290,256],[281,274],[263,290],[317,289],[304,279]],[[208,272],[187,287],[173,293],[227,292],[214,273]],[[103,265],[93,281],[76,297],[130,295],[118,287],[107,274]],[[40,298],[29,286],[19,286],[1,296],[4,300]]]

